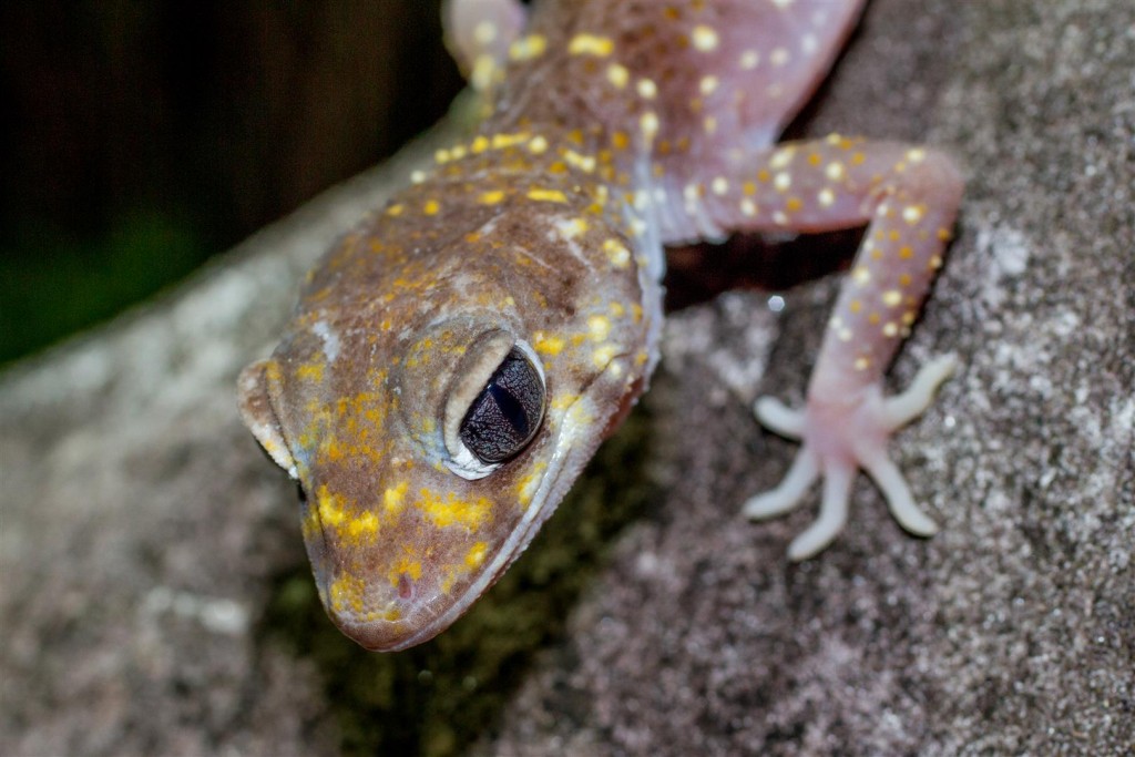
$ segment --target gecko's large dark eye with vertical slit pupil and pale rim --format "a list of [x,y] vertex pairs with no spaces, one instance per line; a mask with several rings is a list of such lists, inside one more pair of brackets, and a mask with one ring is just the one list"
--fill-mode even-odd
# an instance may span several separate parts
[[[451,395],[446,412],[452,456],[446,464],[465,479],[484,478],[523,452],[544,419],[544,372],[531,347],[493,342],[487,346],[496,348],[485,356],[495,355],[494,362],[478,361],[481,370],[466,376],[465,390]],[[461,411],[460,422],[452,422]]]

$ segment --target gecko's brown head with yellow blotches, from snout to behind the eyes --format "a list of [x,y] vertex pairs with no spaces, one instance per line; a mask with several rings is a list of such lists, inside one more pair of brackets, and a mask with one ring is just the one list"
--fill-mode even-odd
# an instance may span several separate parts
[[428,272],[392,258],[365,303],[308,309],[239,379],[245,422],[300,482],[320,598],[368,649],[432,638],[501,577],[650,362],[633,276],[469,244]]

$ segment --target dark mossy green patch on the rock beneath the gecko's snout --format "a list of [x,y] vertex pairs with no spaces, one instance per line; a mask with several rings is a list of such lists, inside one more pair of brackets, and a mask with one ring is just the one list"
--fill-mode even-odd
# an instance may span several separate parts
[[493,727],[535,655],[561,638],[614,536],[644,513],[647,421],[632,413],[499,583],[420,647],[364,651],[327,620],[306,566],[279,582],[263,634],[316,661],[344,755],[449,757]]

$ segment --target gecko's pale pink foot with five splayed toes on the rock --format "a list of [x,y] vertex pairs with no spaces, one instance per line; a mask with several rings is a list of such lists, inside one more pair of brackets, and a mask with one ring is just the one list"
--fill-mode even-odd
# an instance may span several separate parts
[[878,382],[850,397],[812,396],[804,410],[791,410],[771,397],[757,399],[757,420],[781,436],[801,440],[802,446],[780,486],[746,502],[745,515],[763,520],[787,513],[823,477],[819,516],[788,548],[789,560],[807,560],[831,544],[847,523],[851,482],[863,469],[902,528],[916,536],[933,535],[938,524],[915,504],[901,471],[886,454],[886,441],[930,406],[934,392],[957,364],[953,355],[932,360],[906,392],[893,397],[884,397]]

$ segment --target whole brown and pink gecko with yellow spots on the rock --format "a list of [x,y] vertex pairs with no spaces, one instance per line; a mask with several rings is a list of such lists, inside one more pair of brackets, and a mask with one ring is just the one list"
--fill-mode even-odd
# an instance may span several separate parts
[[883,377],[942,266],[962,182],[942,151],[831,134],[777,143],[865,0],[451,0],[484,119],[312,270],[283,340],[238,378],[242,418],[299,481],[319,597],[351,639],[431,639],[529,545],[659,360],[664,245],[866,227],[802,407],[801,443],[739,503],[807,499],[802,560],[865,471],[928,536],[888,453],[956,359]]

